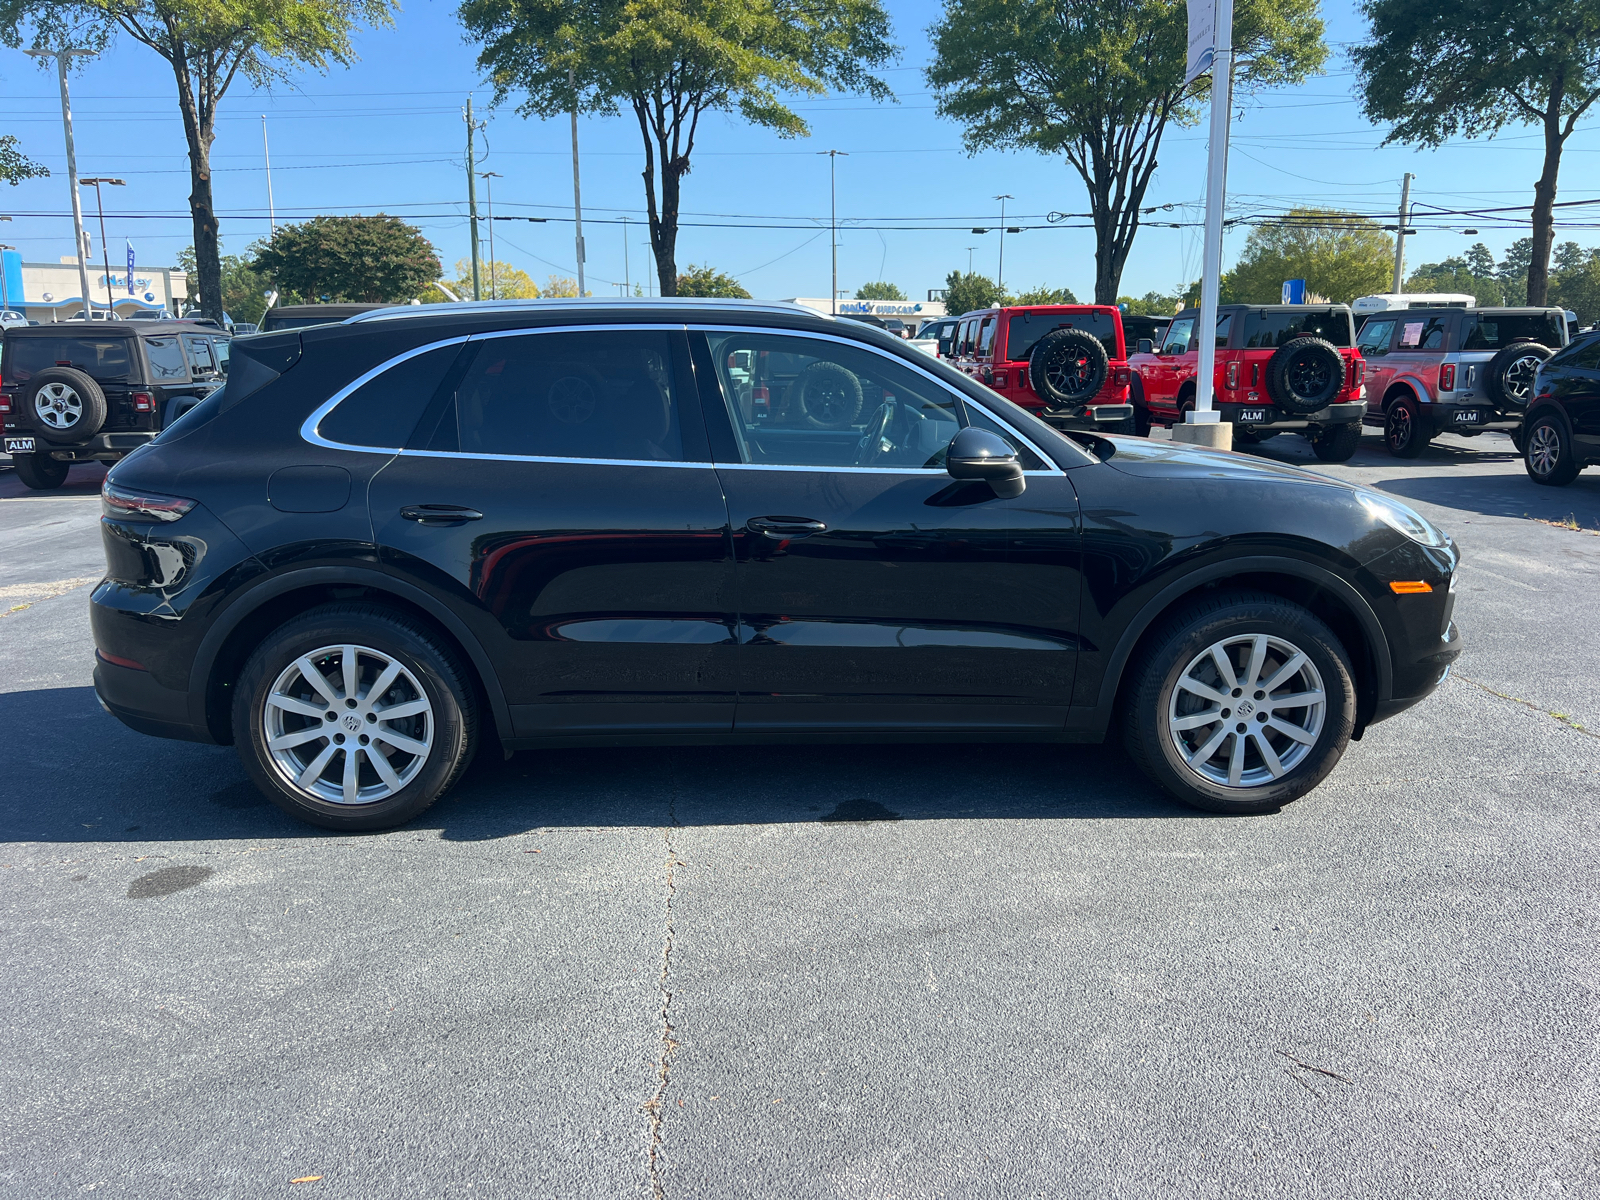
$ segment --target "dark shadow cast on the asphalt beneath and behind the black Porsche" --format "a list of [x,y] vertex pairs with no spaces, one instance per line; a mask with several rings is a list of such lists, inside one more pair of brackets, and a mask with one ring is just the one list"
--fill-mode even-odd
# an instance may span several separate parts
[[[93,688],[0,693],[0,728],[42,731],[11,757],[0,843],[349,837],[278,811],[232,747],[138,734]],[[486,842],[560,827],[1205,816],[1114,744],[658,746],[509,760],[488,746],[405,829]]]

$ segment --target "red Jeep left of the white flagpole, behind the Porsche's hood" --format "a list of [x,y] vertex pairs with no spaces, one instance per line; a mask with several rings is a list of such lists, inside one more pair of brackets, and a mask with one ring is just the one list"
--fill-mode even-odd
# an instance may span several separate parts
[[1112,304],[968,312],[955,365],[1056,429],[1131,434],[1128,344]]

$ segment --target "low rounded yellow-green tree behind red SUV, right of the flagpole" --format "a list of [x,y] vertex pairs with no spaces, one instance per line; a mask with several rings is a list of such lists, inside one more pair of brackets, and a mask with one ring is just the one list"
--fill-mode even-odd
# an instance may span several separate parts
[[1230,304],[1277,304],[1283,282],[1302,278],[1306,291],[1349,304],[1384,290],[1394,256],[1394,238],[1373,221],[1328,208],[1291,208],[1282,221],[1250,230],[1221,291]]

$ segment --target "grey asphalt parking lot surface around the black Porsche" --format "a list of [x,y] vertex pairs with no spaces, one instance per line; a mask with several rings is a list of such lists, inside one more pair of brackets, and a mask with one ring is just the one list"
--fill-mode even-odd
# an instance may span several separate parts
[[0,474],[0,1182],[1600,1194],[1600,470],[1254,453],[1464,555],[1456,674],[1282,813],[1112,747],[568,750],[366,837],[102,714],[101,472]]

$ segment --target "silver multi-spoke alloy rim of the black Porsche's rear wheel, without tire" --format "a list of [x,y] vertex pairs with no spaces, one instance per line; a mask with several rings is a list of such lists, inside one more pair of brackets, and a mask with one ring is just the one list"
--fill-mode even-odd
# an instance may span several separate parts
[[368,646],[323,646],[272,683],[267,754],[299,792],[334,805],[387,800],[427,763],[434,706],[416,675]]

